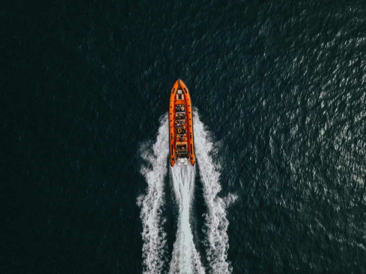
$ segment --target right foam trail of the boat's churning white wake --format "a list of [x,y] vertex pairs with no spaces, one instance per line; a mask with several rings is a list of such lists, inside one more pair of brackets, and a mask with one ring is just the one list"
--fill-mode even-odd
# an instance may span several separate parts
[[207,233],[206,252],[210,268],[209,273],[230,274],[232,268],[227,262],[227,250],[229,248],[227,235],[229,222],[226,219],[225,210],[227,203],[217,196],[221,190],[219,183],[220,166],[215,165],[210,156],[213,144],[199,119],[197,110],[193,112],[193,115],[195,155],[200,167],[204,199],[208,208],[205,215],[205,231]]

